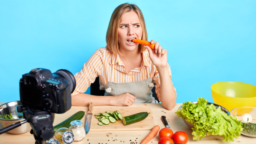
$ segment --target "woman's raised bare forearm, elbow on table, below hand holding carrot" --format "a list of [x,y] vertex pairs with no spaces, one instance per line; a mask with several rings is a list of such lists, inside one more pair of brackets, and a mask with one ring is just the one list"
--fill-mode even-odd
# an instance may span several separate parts
[[157,71],[159,73],[161,83],[161,103],[166,109],[172,110],[176,105],[176,92],[169,75],[168,67],[157,67]]

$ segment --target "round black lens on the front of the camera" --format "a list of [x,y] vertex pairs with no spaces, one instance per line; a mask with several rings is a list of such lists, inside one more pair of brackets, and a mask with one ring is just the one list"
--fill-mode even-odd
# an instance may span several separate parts
[[[71,91],[71,94],[72,94],[73,91],[76,88],[76,79],[73,76],[73,74],[70,71],[66,70],[66,69],[57,70],[55,73],[60,74],[61,76],[63,76],[70,83],[70,91]],[[55,74],[55,73],[53,73],[53,74]]]

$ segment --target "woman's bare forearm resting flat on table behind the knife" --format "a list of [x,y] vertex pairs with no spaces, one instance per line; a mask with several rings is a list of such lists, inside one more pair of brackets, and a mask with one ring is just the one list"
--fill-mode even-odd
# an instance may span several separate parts
[[93,96],[80,93],[71,96],[72,106],[88,106],[89,102],[93,102],[94,106],[111,105],[112,96]]

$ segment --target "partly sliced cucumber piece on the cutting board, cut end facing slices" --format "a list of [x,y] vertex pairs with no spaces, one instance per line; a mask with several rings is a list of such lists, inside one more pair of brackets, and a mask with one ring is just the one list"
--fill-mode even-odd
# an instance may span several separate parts
[[145,119],[148,116],[148,114],[150,114],[150,112],[149,113],[139,112],[134,115],[123,117],[123,124],[126,126],[126,125],[133,124],[135,122],[141,121],[141,120]]

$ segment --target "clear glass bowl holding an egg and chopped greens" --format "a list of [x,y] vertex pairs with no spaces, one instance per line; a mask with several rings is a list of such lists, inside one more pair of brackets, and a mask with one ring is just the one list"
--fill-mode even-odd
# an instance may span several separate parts
[[243,131],[242,134],[248,137],[256,137],[256,108],[255,107],[238,107],[231,110],[231,116],[236,116],[241,120]]

